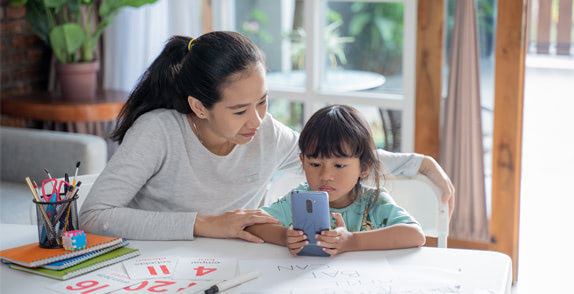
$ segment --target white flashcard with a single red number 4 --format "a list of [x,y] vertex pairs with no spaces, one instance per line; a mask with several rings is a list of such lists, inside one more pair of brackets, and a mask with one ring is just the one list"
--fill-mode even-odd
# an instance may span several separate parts
[[174,280],[228,280],[235,277],[237,259],[180,258]]

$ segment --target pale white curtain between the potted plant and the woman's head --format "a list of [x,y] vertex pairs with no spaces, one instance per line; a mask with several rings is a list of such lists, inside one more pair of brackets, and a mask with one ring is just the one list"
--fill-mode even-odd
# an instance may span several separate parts
[[122,9],[104,34],[104,87],[131,91],[172,35],[201,32],[201,0]]

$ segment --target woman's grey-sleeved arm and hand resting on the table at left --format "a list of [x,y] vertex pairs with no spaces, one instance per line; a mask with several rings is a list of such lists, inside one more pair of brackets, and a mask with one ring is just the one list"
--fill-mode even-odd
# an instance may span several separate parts
[[[130,128],[94,183],[81,208],[80,227],[94,234],[139,240],[191,240],[197,229],[199,236],[259,241],[243,228],[276,222],[259,210],[203,215],[182,208],[182,203],[197,201],[189,194],[193,184],[174,183],[173,170],[179,165],[165,166],[169,164],[166,162],[173,163],[167,159],[168,152],[178,160],[184,156],[177,154],[172,143],[174,137],[181,135],[174,132],[180,130],[169,130],[164,126],[165,119],[151,115],[142,116]],[[186,152],[183,147],[181,152]],[[145,196],[140,194],[142,189],[147,190]],[[80,195],[86,197],[81,189]]]

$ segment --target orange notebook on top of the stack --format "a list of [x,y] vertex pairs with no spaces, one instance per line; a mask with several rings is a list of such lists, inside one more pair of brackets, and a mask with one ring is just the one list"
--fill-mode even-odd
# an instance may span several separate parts
[[98,236],[87,233],[86,238],[88,245],[86,245],[86,248],[81,250],[67,251],[64,248],[40,248],[40,246],[38,246],[38,242],[35,242],[16,248],[2,250],[0,251],[0,258],[26,267],[38,267],[55,261],[94,252],[122,242],[122,238]]

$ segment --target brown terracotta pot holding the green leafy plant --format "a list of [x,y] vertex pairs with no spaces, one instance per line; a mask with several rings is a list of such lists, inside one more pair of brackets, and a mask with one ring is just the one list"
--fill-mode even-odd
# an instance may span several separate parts
[[97,60],[56,64],[62,99],[67,101],[94,100],[99,70],[100,63]]

